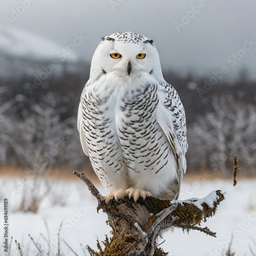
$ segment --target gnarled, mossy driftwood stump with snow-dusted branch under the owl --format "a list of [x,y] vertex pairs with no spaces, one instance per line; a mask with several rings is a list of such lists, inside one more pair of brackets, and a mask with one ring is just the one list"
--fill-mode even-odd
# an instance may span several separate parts
[[97,188],[83,173],[74,174],[88,185],[98,200],[97,210],[102,209],[108,215],[108,223],[113,229],[112,238],[106,236],[103,242],[105,248],[102,249],[97,241],[99,252],[89,247],[90,255],[167,255],[157,247],[156,238],[159,231],[171,226],[186,231],[195,229],[216,237],[216,233],[207,227],[197,225],[215,214],[217,206],[224,200],[220,190],[212,191],[203,199],[165,201],[148,197],[145,201],[139,198],[134,203],[125,197],[106,205]]

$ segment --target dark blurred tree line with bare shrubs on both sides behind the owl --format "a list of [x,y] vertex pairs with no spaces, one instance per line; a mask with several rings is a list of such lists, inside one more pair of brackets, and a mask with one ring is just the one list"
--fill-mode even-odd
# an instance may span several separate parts
[[[91,168],[76,128],[89,63],[61,63],[56,70],[46,62],[36,65],[30,65],[29,74],[0,76],[0,165]],[[237,154],[244,172],[256,173],[256,82],[245,74],[205,90],[209,77],[164,72],[186,112],[187,172],[209,169],[229,175]],[[205,91],[201,96],[199,88]]]

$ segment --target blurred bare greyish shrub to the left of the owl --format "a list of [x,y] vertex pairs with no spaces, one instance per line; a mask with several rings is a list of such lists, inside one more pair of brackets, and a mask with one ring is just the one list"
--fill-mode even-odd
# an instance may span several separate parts
[[77,119],[62,119],[57,98],[49,92],[37,103],[19,94],[0,105],[2,166],[14,164],[41,173],[56,166],[84,167],[87,158],[76,132]]

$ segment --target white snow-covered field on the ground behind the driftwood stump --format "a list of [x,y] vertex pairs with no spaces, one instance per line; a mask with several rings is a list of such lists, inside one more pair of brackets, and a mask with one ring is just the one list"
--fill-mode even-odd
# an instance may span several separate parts
[[[207,175],[206,175],[207,176]],[[206,236],[200,231],[183,233],[176,229],[173,233],[164,233],[159,239],[161,248],[169,255],[225,255],[231,235],[233,243],[231,251],[235,255],[253,255],[256,253],[256,179],[238,179],[238,185],[233,187],[232,180],[210,180],[205,175],[185,179],[181,189],[181,198],[205,197],[212,190],[226,191],[225,200],[219,206],[216,216],[205,223],[212,231],[217,232],[217,238]],[[239,178],[239,177],[238,177]],[[58,181],[54,184],[48,196],[44,199],[36,214],[17,211],[19,201],[24,193],[20,178],[5,178],[0,180],[0,229],[3,229],[4,198],[9,202],[9,241],[10,237],[22,246],[25,255],[39,255],[28,234],[39,242],[42,248],[48,248],[46,240],[51,240],[49,255],[56,255],[58,246],[58,229],[60,231],[60,249],[64,255],[75,255],[65,244],[78,254],[84,255],[86,245],[97,250],[96,239],[104,240],[110,227],[106,226],[106,215],[96,211],[96,199],[91,195],[86,184],[80,180]],[[97,188],[104,195],[100,184]],[[38,188],[35,193],[43,190]],[[27,192],[28,193],[28,192]],[[48,226],[48,231],[46,224]],[[0,233],[3,241],[4,232]],[[81,247],[81,245],[83,247]],[[251,249],[250,249],[251,248]],[[251,251],[250,251],[251,250]],[[4,254],[1,242],[0,254]],[[7,254],[6,254],[7,255]],[[10,255],[19,255],[14,241]],[[86,250],[86,254],[89,255]]]

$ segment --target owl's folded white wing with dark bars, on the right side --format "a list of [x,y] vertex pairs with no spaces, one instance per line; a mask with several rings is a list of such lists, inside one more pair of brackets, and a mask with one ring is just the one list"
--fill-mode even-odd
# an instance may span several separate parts
[[186,117],[176,90],[167,82],[159,83],[156,118],[177,159],[179,176],[186,172]]

